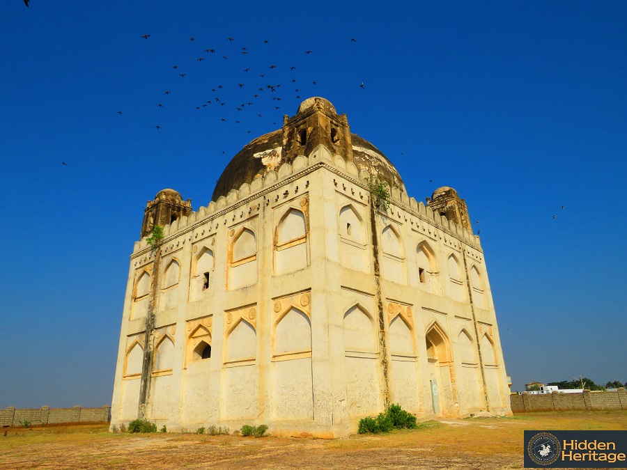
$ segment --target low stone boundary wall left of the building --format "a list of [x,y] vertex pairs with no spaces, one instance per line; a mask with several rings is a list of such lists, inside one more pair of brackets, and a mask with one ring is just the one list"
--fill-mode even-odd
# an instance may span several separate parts
[[62,423],[108,423],[111,421],[111,407],[101,408],[26,408],[8,407],[0,409],[0,428],[19,426],[20,421],[30,421],[32,425]]

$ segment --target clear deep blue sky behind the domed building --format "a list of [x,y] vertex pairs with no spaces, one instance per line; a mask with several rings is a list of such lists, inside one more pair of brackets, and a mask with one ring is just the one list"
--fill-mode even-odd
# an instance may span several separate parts
[[465,198],[514,389],[626,381],[626,24],[625,1],[3,1],[0,407],[109,404],[146,201],[208,204],[313,95],[410,196]]

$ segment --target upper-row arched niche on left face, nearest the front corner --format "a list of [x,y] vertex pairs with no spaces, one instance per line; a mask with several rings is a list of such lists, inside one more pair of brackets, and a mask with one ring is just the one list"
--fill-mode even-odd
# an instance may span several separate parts
[[274,230],[274,275],[280,276],[309,266],[307,216],[288,207]]

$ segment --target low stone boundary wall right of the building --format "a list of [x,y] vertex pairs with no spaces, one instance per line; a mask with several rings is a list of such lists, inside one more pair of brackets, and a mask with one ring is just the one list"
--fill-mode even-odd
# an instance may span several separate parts
[[627,391],[511,395],[513,413],[627,409]]

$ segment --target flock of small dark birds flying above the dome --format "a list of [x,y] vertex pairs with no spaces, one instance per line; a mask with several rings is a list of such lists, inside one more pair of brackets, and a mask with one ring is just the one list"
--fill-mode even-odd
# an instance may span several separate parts
[[[150,40],[151,35],[146,33],[139,36],[139,38]],[[348,39],[350,42],[357,42],[356,38]],[[277,125],[277,111],[281,113],[281,116],[284,114],[280,111],[284,101],[290,98],[304,100],[307,97],[304,88],[307,87],[307,92],[309,92],[311,87],[316,86],[318,83],[316,79],[304,79],[302,77],[303,74],[299,74],[300,70],[298,68],[300,66],[298,68],[296,65],[281,66],[269,60],[268,65],[261,67],[259,59],[262,58],[261,54],[265,53],[263,49],[256,51],[258,54],[255,58],[256,62],[254,62],[247,58],[249,54],[255,54],[249,47],[236,46],[237,42],[231,36],[226,38],[225,41],[226,43],[220,52],[216,52],[216,49],[208,47],[206,49],[199,48],[198,52],[195,53],[196,58],[194,62],[212,62],[210,65],[211,79],[214,79],[215,82],[209,85],[211,88],[207,86],[206,95],[199,102],[190,105],[190,108],[195,108],[196,111],[212,109],[215,121],[218,123],[231,122],[235,125],[245,125],[246,123],[251,123],[251,119],[269,119],[274,121],[272,125]],[[189,38],[189,42],[196,42],[196,39],[192,36]],[[261,47],[268,47],[268,44],[269,40],[263,40]],[[202,52],[200,52],[201,50]],[[233,61],[231,59],[233,54],[238,55],[238,60]],[[314,54],[314,51],[307,49],[303,51],[303,54],[305,57],[309,57],[311,54]],[[221,67],[226,67],[226,64],[231,62],[236,64],[245,63],[245,65],[238,72],[238,78],[235,81],[233,81],[232,77],[224,81],[224,77],[220,79],[220,72],[223,71]],[[315,65],[314,63],[310,64]],[[202,69],[199,70],[198,67],[194,68],[192,66],[191,57],[187,58],[185,63],[173,63],[170,67],[173,73],[183,80],[189,79],[188,76],[203,73]],[[288,74],[288,76],[286,77],[285,74]],[[359,87],[362,89],[366,88],[363,81],[359,84]],[[176,88],[164,89],[162,98],[155,102],[155,107],[158,109],[168,107],[168,101],[174,95],[176,95]],[[254,112],[251,111],[252,109],[254,109]],[[123,111],[118,110],[116,113],[122,115]],[[153,125],[156,130],[162,129],[162,123],[153,123]],[[252,130],[247,132],[250,134]]]

